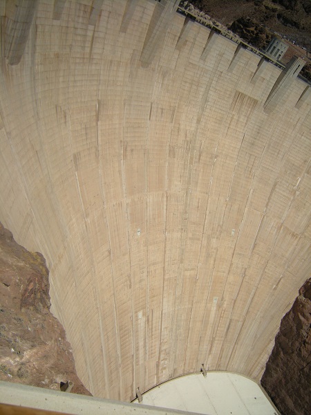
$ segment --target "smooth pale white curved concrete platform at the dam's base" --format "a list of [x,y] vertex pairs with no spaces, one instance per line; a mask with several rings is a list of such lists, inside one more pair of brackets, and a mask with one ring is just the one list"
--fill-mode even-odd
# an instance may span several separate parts
[[169,380],[143,394],[142,403],[209,415],[279,414],[259,385],[229,372],[207,371],[207,376]]

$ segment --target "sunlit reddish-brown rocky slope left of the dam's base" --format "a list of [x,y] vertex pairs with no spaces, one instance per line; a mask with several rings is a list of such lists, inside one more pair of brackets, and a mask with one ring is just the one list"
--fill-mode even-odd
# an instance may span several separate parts
[[91,395],[75,372],[62,325],[50,313],[44,257],[18,245],[0,223],[0,380]]

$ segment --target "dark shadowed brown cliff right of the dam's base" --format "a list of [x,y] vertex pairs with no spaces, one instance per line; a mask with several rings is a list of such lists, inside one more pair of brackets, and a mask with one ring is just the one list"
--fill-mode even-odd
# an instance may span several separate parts
[[311,278],[283,317],[261,385],[284,415],[308,415],[311,407]]

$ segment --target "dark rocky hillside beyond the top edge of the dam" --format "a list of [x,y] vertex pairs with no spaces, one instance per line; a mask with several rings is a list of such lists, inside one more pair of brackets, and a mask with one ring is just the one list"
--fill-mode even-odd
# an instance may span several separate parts
[[272,37],[283,37],[290,47],[282,63],[287,64],[294,55],[303,58],[306,63],[301,75],[311,81],[310,0],[182,0],[180,6],[208,21],[216,19],[223,28],[260,50]]

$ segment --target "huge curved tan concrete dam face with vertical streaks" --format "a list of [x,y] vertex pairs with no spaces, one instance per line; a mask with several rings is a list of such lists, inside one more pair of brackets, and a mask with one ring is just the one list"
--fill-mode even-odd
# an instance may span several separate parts
[[310,272],[310,89],[178,1],[1,1],[0,220],[96,396],[260,380]]

